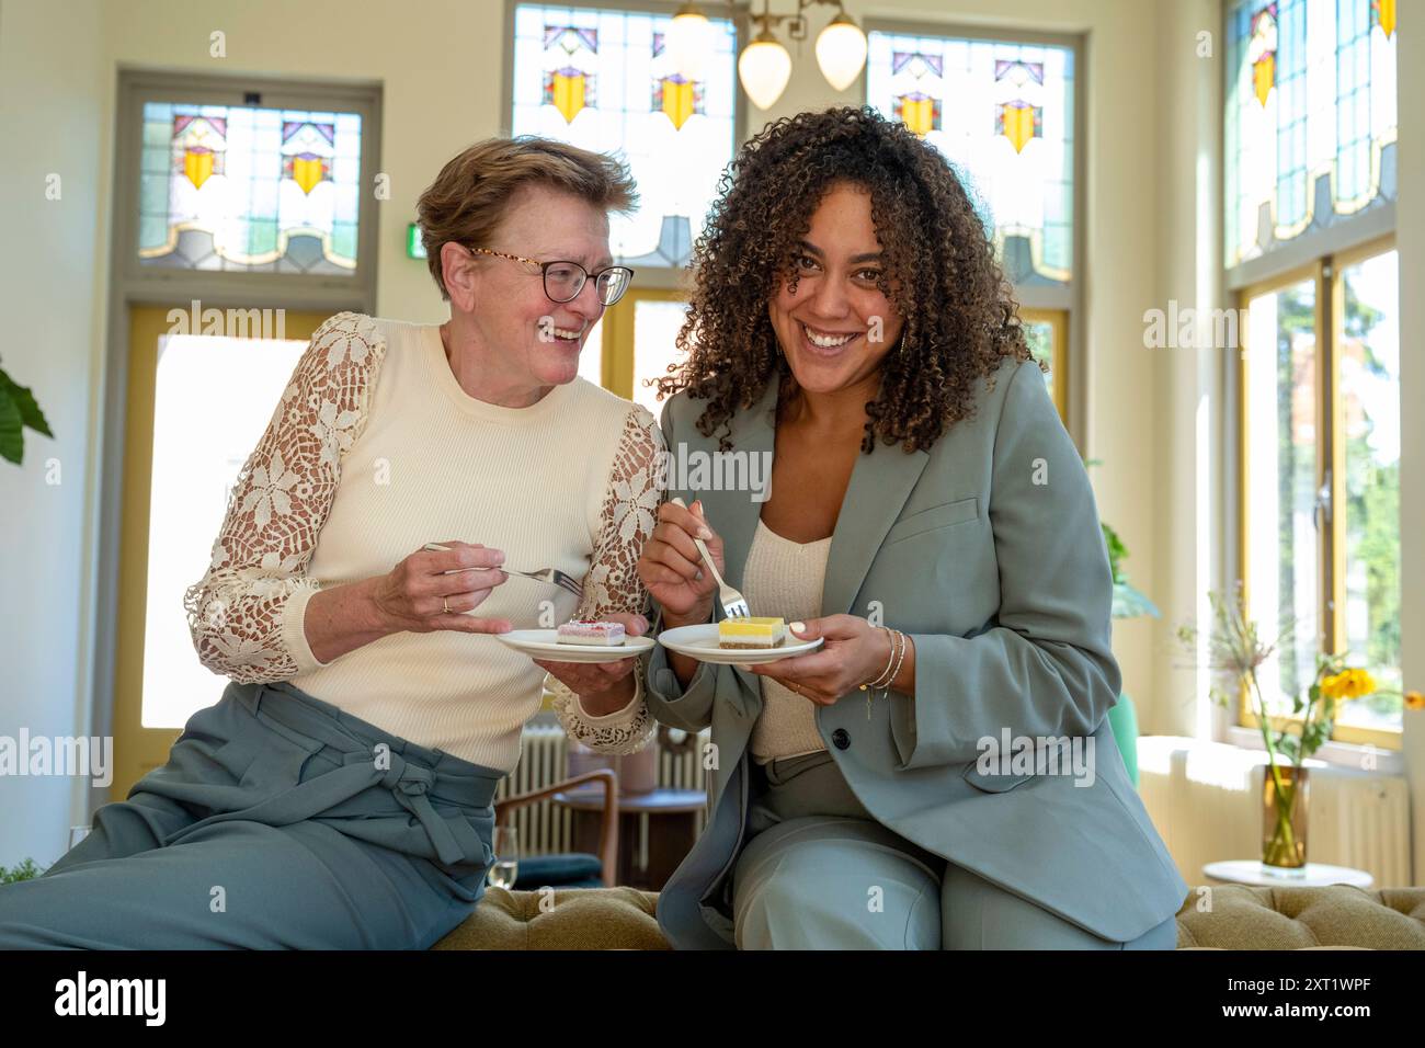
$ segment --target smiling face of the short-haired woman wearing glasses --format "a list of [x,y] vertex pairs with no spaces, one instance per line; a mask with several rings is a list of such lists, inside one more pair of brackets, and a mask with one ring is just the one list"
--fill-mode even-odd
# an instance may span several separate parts
[[[465,258],[473,262],[469,295],[462,295],[465,301],[457,302],[452,288],[452,307],[469,308],[479,338],[497,351],[506,382],[520,385],[527,381],[534,386],[571,382],[579,375],[579,351],[604,312],[593,274],[613,265],[608,217],[569,192],[527,185],[510,200],[490,242],[470,247],[542,262],[573,261],[590,272],[579,295],[569,302],[553,302],[544,294],[540,271],[533,265],[465,252]],[[553,271],[550,285],[554,285]]]

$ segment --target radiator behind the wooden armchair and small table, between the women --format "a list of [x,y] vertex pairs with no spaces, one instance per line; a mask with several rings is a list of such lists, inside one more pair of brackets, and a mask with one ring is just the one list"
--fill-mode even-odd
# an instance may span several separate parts
[[[704,731],[707,736],[707,731]],[[705,741],[705,739],[704,739]],[[506,776],[494,798],[513,797],[530,790],[551,786],[566,777],[566,754],[569,736],[551,714],[539,714],[524,726],[522,736],[520,763]],[[700,757],[701,746],[688,753],[658,754],[657,784],[668,790],[707,791],[707,771]],[[514,813],[514,827],[519,830],[520,853],[524,856],[550,856],[573,851],[570,811],[551,800],[542,800]],[[705,814],[695,814],[697,833],[703,833]],[[640,818],[640,858],[646,857],[648,817]]]

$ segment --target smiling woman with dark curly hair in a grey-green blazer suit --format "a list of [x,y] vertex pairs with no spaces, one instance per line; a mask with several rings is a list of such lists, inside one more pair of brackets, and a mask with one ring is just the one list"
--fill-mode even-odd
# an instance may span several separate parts
[[673,478],[691,506],[660,508],[640,576],[664,629],[721,617],[701,538],[752,615],[824,643],[751,667],[653,654],[654,716],[712,733],[664,933],[1173,948],[1187,884],[1107,721],[1093,492],[950,165],[871,110],[778,120],[725,174],[694,269],[664,439],[770,456],[771,486]]

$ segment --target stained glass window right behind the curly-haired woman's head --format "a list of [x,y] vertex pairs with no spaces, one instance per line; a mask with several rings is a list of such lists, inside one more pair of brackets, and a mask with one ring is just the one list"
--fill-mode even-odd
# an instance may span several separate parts
[[1016,285],[1073,275],[1069,47],[871,31],[866,101],[955,164]]

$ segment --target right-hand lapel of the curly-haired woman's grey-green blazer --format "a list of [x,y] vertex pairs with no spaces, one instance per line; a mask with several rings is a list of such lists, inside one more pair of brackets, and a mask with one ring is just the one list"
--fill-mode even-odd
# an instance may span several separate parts
[[831,535],[826,555],[826,579],[822,585],[821,613],[846,615],[856,599],[881,540],[891,530],[905,500],[911,498],[921,472],[931,456],[923,451],[906,453],[899,445],[878,443],[866,455],[856,452],[846,496]]

